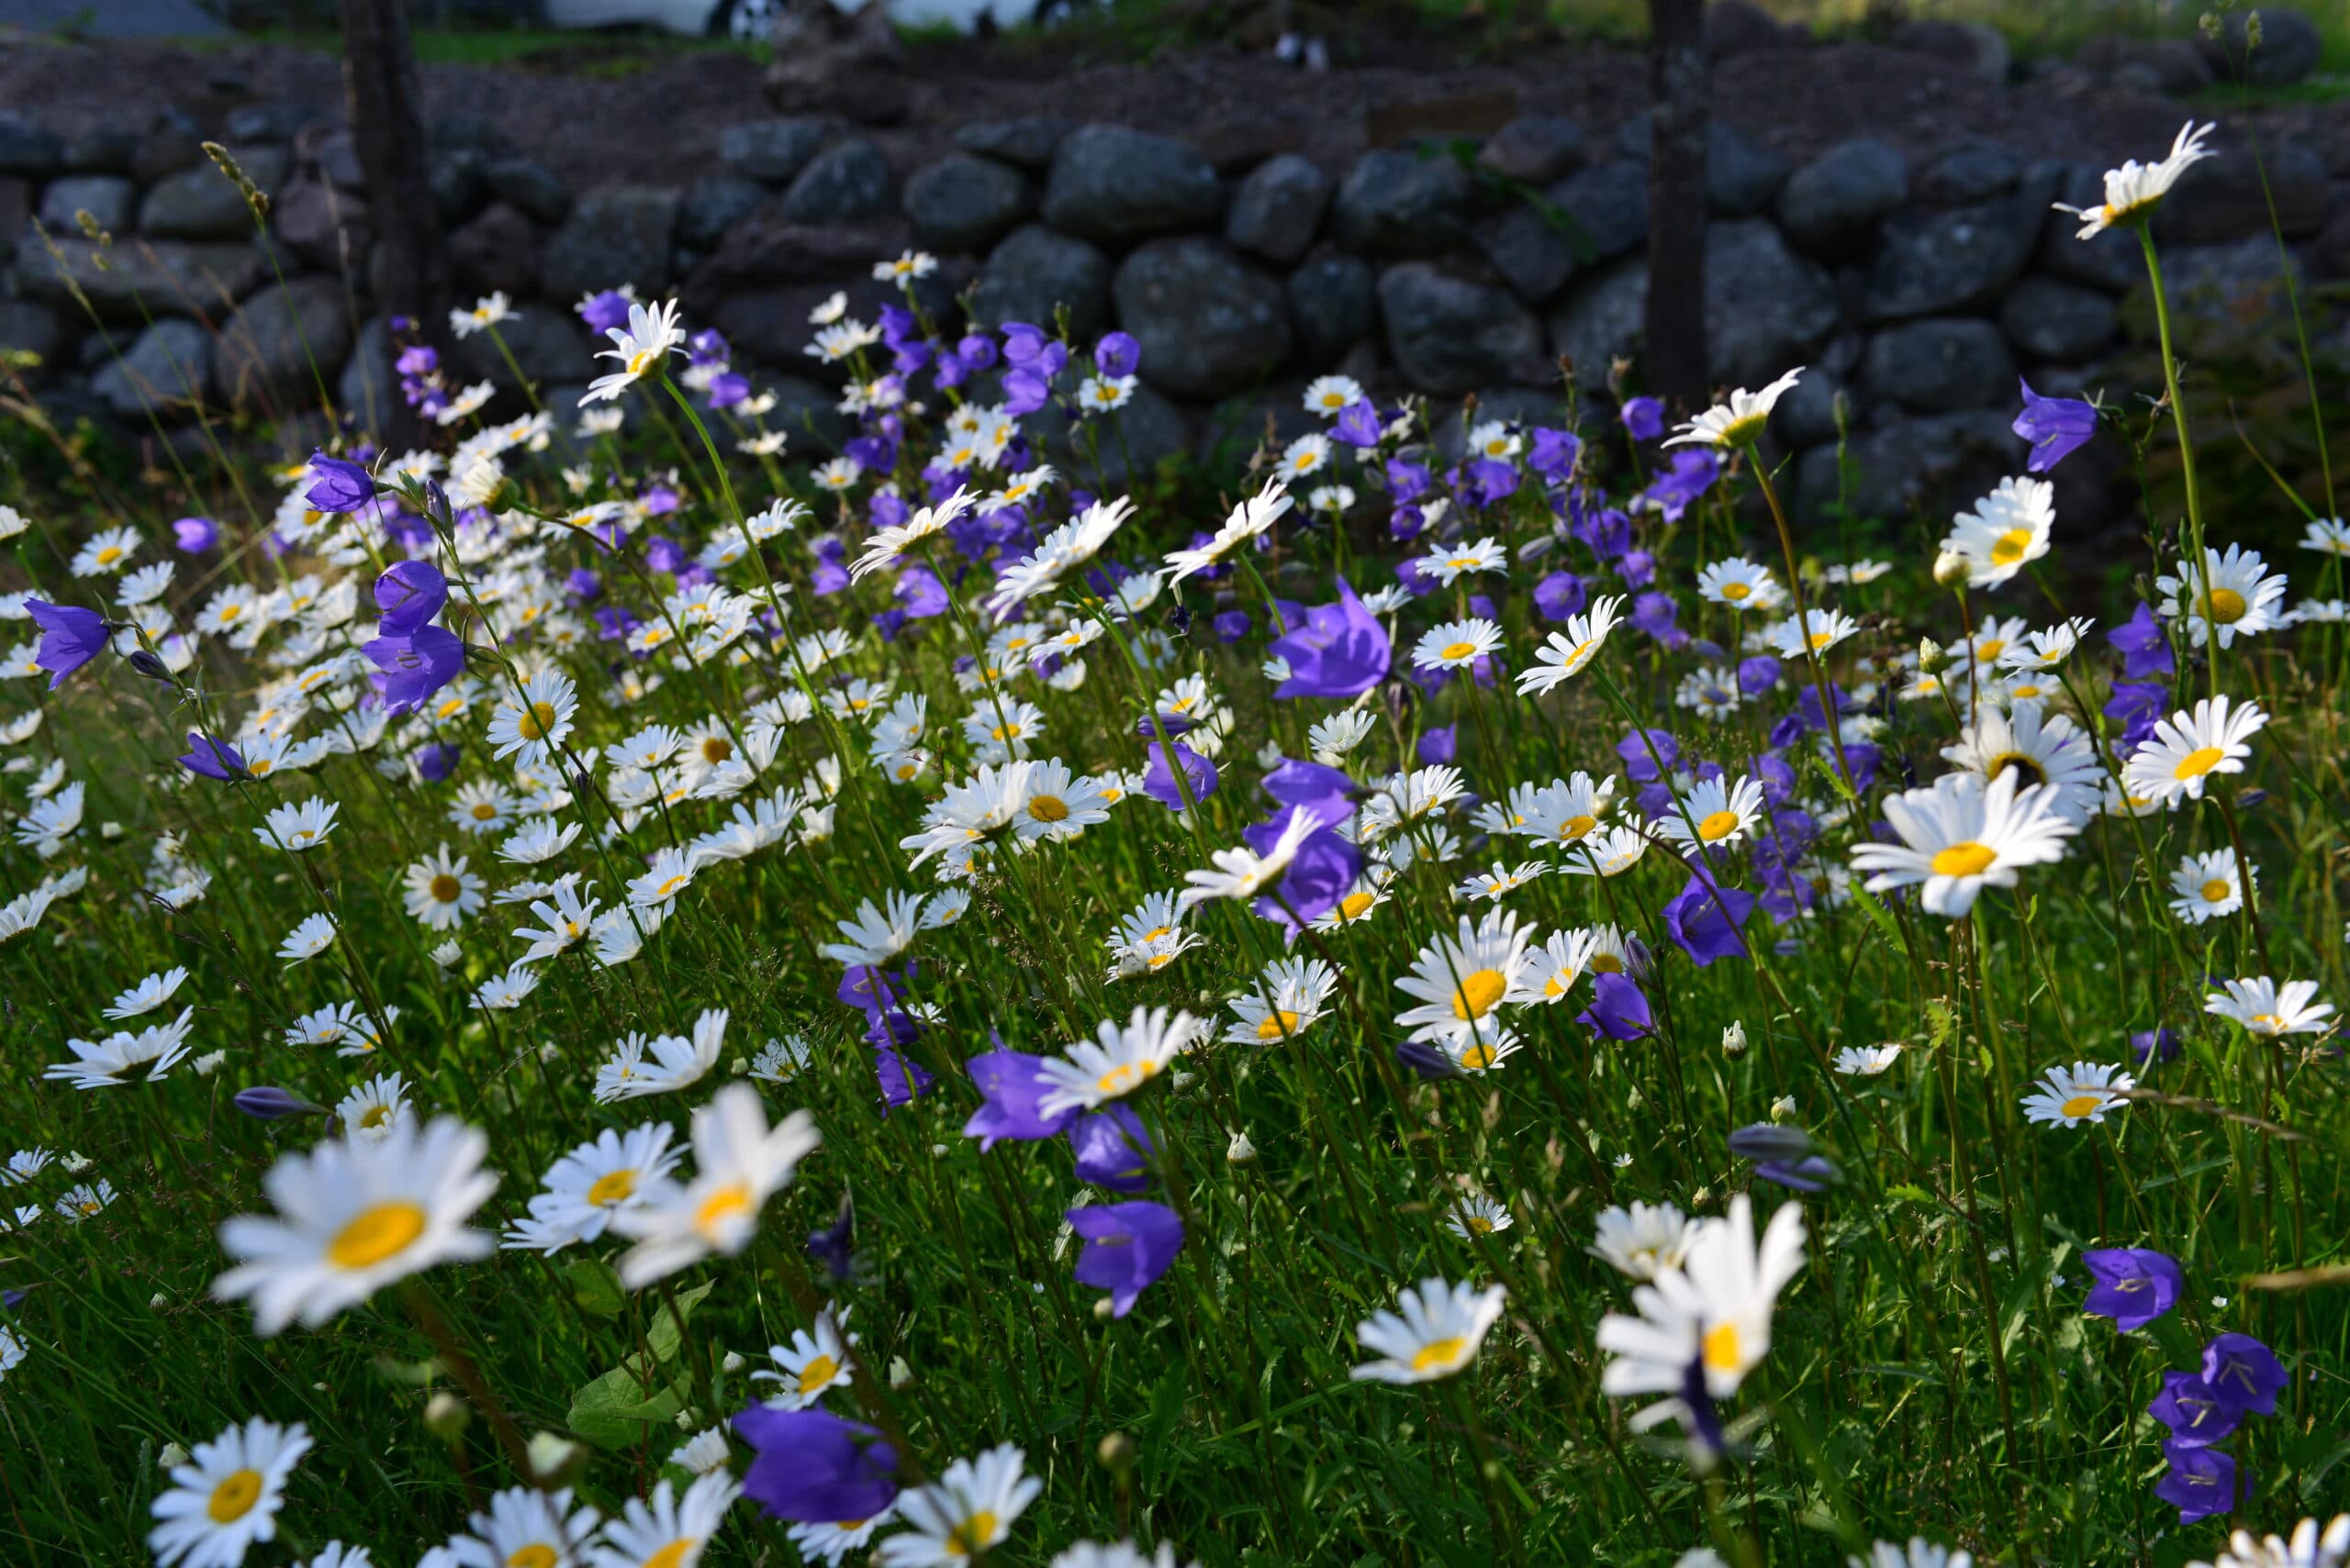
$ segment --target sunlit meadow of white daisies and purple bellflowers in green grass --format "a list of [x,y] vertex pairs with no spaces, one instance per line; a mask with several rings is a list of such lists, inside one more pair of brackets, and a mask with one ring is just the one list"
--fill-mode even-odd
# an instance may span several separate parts
[[2329,495],[2169,352],[1946,523],[1791,528],[1800,369],[1128,484],[928,265],[839,455],[611,291],[0,507],[7,1561],[2350,1561]]

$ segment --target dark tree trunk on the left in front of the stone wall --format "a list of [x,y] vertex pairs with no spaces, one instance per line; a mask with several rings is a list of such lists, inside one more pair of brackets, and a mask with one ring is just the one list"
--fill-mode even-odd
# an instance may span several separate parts
[[[369,279],[385,317],[409,317],[418,333],[449,352],[449,249],[442,244],[425,129],[416,115],[416,56],[402,0],[341,0],[343,96],[367,176],[376,244]],[[383,411],[376,432],[395,451],[416,446],[407,401]]]

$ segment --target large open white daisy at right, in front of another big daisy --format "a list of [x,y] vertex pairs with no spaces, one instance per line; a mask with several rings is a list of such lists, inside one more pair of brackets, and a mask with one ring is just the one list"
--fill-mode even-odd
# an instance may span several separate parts
[[2016,770],[1986,786],[1972,772],[1946,772],[1932,789],[1908,789],[1885,800],[1885,819],[1901,843],[1852,847],[1852,869],[1873,871],[1868,892],[1925,885],[1920,904],[1946,918],[1974,908],[1983,887],[2014,887],[2023,866],[2066,854],[2077,826],[2056,812],[2044,789],[2016,789]]

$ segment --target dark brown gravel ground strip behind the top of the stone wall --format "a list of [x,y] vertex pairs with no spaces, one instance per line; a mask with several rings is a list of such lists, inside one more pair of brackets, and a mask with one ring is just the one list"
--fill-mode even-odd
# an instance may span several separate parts
[[[625,45],[588,38],[543,63],[430,66],[425,115],[489,120],[576,190],[592,190],[691,178],[714,160],[724,127],[776,113],[759,92],[759,66],[745,56],[670,56],[634,73],[592,68],[609,66],[616,49]],[[1511,92],[1520,110],[1567,115],[1598,141],[1647,101],[1640,59],[1624,49],[1560,45],[1509,66],[1445,63],[1441,49],[1426,59],[1429,68],[1370,63],[1307,75],[1220,47],[1104,63],[1055,49],[1053,40],[964,40],[912,54],[909,113],[872,136],[900,169],[914,169],[949,146],[956,124],[1050,113],[1119,120],[1210,150],[1300,150],[1337,171],[1365,146],[1365,117],[1396,106]],[[136,129],[162,103],[209,122],[237,94],[230,82],[258,99],[341,101],[341,63],[291,47],[190,54],[129,40],[0,42],[0,106],[66,134],[125,122]],[[1998,89],[1958,66],[1868,45],[1723,61],[1716,113],[1795,162],[1864,131],[1911,153],[1986,136],[2023,155],[2115,162],[2160,155],[2186,117],[2169,99],[2092,87],[2075,73]],[[2329,153],[2350,146],[2350,103],[2265,110],[2261,124]],[[2329,155],[2329,164],[2343,171],[2345,160]]]

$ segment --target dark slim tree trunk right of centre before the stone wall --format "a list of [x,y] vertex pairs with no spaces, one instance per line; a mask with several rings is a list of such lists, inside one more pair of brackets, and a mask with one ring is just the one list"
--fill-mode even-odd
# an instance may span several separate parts
[[1706,387],[1706,0],[1647,0],[1647,390],[1701,408]]

